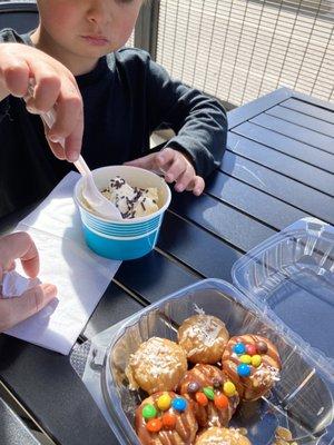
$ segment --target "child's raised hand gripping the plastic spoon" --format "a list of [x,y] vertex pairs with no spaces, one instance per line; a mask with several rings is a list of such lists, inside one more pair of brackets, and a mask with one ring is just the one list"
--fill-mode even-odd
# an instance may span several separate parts
[[[32,113],[55,107],[57,118],[46,137],[57,158],[73,161],[81,150],[84,107],[72,73],[56,59],[20,43],[0,43],[0,100],[8,95],[24,98],[33,80],[33,97],[27,100]],[[65,139],[65,150],[59,140]]]

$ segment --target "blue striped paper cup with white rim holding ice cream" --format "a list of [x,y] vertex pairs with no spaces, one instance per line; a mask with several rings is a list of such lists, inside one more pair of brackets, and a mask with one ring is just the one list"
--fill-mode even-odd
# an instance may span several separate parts
[[135,259],[148,254],[157,243],[164,214],[170,202],[170,190],[158,175],[143,168],[110,166],[92,170],[97,187],[102,190],[116,176],[130,186],[158,189],[159,210],[138,218],[108,220],[89,210],[82,201],[82,178],[75,188],[75,201],[79,208],[86,244],[96,254],[111,259]]

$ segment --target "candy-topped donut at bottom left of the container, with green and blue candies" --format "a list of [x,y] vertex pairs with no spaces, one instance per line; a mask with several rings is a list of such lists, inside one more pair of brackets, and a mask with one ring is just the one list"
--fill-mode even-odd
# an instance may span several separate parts
[[198,429],[190,404],[173,392],[146,398],[136,409],[135,424],[143,445],[191,445]]

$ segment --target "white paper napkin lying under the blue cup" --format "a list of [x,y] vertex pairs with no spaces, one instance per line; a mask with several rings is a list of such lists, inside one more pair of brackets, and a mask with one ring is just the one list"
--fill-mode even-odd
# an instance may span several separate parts
[[[72,198],[79,177],[73,171],[67,175],[16,228],[28,231],[35,240],[40,255],[39,279],[55,284],[58,294],[56,301],[7,332],[66,355],[121,264],[97,256],[85,244]],[[19,265],[17,273],[24,275]],[[23,281],[14,279],[20,280],[22,293]]]

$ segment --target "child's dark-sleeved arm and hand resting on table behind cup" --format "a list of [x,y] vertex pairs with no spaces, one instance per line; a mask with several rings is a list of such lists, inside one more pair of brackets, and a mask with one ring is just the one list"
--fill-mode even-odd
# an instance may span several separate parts
[[166,180],[176,182],[176,190],[187,189],[200,195],[203,177],[220,165],[226,148],[226,112],[215,99],[173,80],[147,53],[140,56],[146,63],[150,130],[164,123],[164,127],[173,128],[176,136],[160,152],[130,164],[161,168]]

